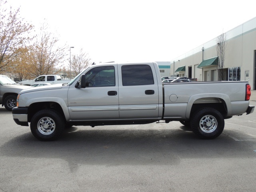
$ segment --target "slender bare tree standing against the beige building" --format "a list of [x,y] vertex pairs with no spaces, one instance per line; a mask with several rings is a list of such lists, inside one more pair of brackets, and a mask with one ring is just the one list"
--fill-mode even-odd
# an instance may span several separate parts
[[219,80],[224,80],[224,59],[225,59],[225,52],[226,52],[226,33],[222,33],[220,36],[217,37],[217,56],[218,56],[218,76]]

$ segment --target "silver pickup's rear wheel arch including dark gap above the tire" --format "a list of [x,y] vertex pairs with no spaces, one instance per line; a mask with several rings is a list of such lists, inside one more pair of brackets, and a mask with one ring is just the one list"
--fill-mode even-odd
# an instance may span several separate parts
[[197,94],[191,96],[186,108],[186,119],[189,119],[195,110],[202,107],[212,107],[229,116],[232,113],[230,98],[226,94]]

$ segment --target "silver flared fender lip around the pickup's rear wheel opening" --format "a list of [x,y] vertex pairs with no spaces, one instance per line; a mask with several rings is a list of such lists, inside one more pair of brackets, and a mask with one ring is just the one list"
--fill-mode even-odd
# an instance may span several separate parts
[[[219,98],[219,99],[224,100],[226,107],[227,107],[227,116],[232,114],[231,102],[230,102],[230,98],[228,95],[218,94],[218,93],[196,94],[196,95],[191,96],[188,100],[188,105],[187,105],[187,109],[186,109],[186,118],[187,119],[189,119],[189,117],[190,117],[190,112],[191,112],[194,102],[201,98]],[[207,103],[210,103],[210,102],[207,102]]]

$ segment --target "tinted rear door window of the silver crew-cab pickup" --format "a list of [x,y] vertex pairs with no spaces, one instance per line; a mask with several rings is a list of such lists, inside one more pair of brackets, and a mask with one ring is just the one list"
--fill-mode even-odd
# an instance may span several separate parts
[[152,85],[153,73],[149,65],[124,65],[122,66],[123,86]]

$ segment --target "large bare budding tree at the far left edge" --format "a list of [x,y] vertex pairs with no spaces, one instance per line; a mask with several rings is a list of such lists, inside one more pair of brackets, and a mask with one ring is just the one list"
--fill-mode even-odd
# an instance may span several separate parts
[[18,16],[20,9],[6,8],[7,1],[0,0],[0,73],[10,70],[12,60],[22,53],[22,46],[31,39],[33,26]]

